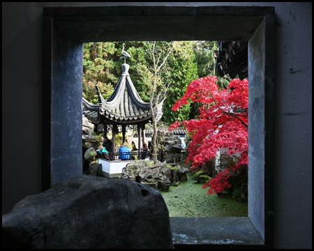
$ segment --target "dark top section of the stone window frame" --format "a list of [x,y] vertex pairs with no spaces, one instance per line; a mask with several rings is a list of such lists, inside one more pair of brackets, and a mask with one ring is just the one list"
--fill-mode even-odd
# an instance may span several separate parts
[[[176,40],[247,41],[265,13],[274,8],[107,6],[44,10],[45,17],[53,17],[82,42],[173,40],[174,36]],[[234,16],[237,26],[230,18]],[[138,27],[145,31],[141,36]]]

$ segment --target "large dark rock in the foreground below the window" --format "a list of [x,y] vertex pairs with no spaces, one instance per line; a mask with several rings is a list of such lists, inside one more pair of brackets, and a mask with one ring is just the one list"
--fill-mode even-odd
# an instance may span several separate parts
[[77,176],[2,216],[2,248],[173,248],[169,212],[146,185]]

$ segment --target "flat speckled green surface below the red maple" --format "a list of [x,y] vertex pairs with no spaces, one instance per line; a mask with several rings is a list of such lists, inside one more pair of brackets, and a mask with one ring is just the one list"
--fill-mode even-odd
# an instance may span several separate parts
[[165,199],[170,217],[248,217],[248,203],[232,198],[208,195],[188,176],[179,186],[170,186],[168,192],[160,192]]

